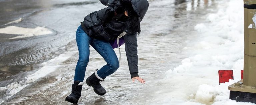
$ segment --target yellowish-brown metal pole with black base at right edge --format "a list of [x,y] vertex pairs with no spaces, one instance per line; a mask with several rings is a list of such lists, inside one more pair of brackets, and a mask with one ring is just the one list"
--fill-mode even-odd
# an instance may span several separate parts
[[244,0],[243,80],[228,89],[230,99],[256,103],[256,0]]

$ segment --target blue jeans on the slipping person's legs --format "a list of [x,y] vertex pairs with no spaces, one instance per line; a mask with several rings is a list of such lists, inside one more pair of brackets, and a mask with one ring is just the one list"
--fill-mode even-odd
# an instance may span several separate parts
[[[89,62],[89,45],[91,45],[107,62],[102,68],[97,71],[100,78],[105,79],[113,74],[119,67],[118,58],[115,51],[109,42],[97,40],[89,37],[81,26],[76,31],[76,43],[79,51],[79,59],[76,64],[74,80],[83,82],[85,70]],[[96,68],[95,68],[96,69]]]

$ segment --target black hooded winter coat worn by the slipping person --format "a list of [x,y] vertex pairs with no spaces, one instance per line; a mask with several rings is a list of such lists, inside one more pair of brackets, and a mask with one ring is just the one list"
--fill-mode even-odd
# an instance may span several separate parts
[[[138,55],[137,55],[137,33],[130,27],[132,22],[127,20],[124,22],[117,21],[116,26],[122,27],[123,30],[115,30],[110,26],[106,26],[105,21],[110,12],[114,12],[118,6],[121,6],[119,0],[101,0],[101,3],[108,6],[99,11],[95,11],[84,18],[81,22],[83,30],[92,38],[110,41],[114,40],[123,31],[127,34],[124,36],[125,51],[128,61],[131,77],[138,76]],[[141,21],[148,9],[147,0],[131,0],[134,11],[139,15],[139,21]],[[109,30],[115,30],[116,34],[110,34]]]

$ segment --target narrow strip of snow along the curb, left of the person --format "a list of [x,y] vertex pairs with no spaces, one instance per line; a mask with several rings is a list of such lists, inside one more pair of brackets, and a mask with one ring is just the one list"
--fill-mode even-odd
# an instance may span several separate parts
[[[29,83],[32,83],[36,81],[39,78],[45,77],[49,75],[50,73],[56,71],[60,66],[61,63],[66,61],[68,58],[70,58],[73,54],[77,53],[77,51],[69,51],[65,52],[64,54],[60,54],[58,57],[55,57],[47,62],[42,63],[41,65],[43,66],[40,68],[38,71],[36,71],[33,74],[28,75],[25,77],[24,80],[21,80],[19,82],[14,82],[11,83],[5,87],[0,87],[0,92],[6,92],[5,94],[5,99],[10,98],[23,88],[29,85]],[[4,101],[4,100],[0,100]],[[1,104],[1,102],[0,102]]]

